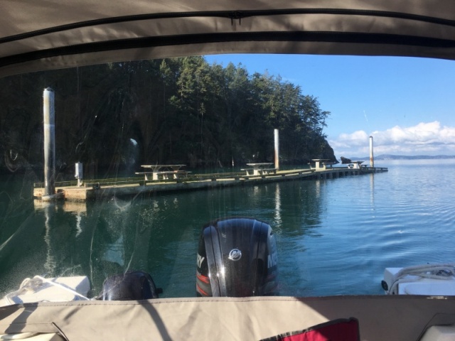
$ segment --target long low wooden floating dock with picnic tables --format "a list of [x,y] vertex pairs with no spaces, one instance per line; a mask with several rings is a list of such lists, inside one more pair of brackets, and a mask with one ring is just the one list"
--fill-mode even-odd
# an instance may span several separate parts
[[41,200],[54,200],[57,198],[68,201],[94,200],[100,197],[139,195],[141,193],[160,193],[176,190],[200,190],[205,188],[218,188],[235,185],[258,185],[277,181],[297,179],[331,179],[350,175],[363,175],[387,172],[387,168],[378,167],[333,167],[294,169],[290,171],[277,171],[267,175],[245,175],[237,173],[213,173],[188,175],[187,178],[175,180],[144,180],[144,178],[116,178],[103,180],[85,180],[78,186],[75,181],[55,183],[55,195],[45,195],[43,183],[36,183],[33,188],[33,197]]

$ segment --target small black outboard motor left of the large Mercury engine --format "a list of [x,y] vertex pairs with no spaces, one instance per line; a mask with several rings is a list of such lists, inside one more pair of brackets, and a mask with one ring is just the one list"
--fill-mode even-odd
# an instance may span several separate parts
[[137,301],[158,298],[162,293],[154,280],[142,271],[132,271],[106,278],[102,285],[102,301]]

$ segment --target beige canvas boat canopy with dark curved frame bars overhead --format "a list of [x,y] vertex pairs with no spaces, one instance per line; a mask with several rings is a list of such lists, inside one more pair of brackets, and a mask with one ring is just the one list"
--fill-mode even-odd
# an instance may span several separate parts
[[453,1],[5,0],[0,8],[0,77],[216,53],[455,56]]

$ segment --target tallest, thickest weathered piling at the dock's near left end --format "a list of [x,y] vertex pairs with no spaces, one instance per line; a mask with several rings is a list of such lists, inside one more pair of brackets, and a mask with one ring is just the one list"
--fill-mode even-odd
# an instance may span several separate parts
[[44,195],[55,194],[55,107],[54,91],[43,92]]

